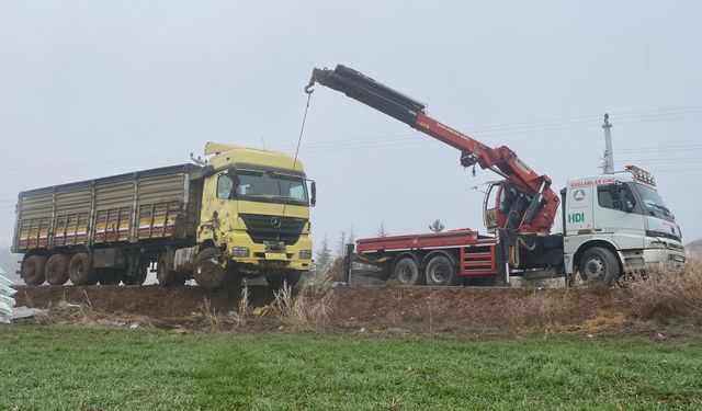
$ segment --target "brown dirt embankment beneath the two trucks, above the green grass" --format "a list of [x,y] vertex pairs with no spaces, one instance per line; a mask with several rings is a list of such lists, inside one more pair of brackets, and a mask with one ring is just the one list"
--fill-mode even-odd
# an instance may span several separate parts
[[[22,286],[19,290],[18,305],[48,308],[70,301],[98,311],[157,319],[192,316],[201,311],[205,299],[220,313],[235,310],[239,302],[236,290],[213,293],[195,286]],[[272,301],[273,294],[267,287],[251,287],[249,298],[250,307],[261,307]],[[329,301],[331,320],[382,323],[576,323],[603,311],[627,312],[631,306],[631,298],[623,289],[592,288],[341,287],[331,290]]]

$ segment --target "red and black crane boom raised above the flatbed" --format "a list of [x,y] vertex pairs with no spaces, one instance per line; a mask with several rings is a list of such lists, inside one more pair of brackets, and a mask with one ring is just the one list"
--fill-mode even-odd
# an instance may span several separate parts
[[[463,167],[480,165],[502,175],[509,183],[530,196],[530,205],[517,228],[521,232],[548,232],[558,208],[558,197],[551,190],[551,179],[539,175],[508,147],[490,148],[427,115],[427,105],[351,68],[338,65],[335,70],[313,70],[305,92],[312,93],[315,82],[340,91],[410,127],[461,150]],[[503,227],[505,228],[505,227]]]

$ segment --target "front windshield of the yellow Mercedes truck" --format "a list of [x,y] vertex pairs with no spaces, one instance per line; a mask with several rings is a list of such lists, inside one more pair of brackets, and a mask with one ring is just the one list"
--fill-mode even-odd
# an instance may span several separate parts
[[238,184],[235,197],[251,197],[252,201],[293,203],[307,205],[305,179],[270,171],[236,171]]

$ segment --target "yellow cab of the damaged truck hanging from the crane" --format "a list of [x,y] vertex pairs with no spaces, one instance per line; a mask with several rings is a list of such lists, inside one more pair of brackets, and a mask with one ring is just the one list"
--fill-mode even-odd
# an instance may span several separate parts
[[[309,205],[316,202],[315,182],[308,187],[302,162],[216,144],[205,155],[213,157],[203,184],[199,248],[211,244],[220,265],[241,276],[263,275],[274,286],[296,283],[312,267]],[[195,254],[188,254],[195,265]],[[194,270],[197,278],[202,267]]]

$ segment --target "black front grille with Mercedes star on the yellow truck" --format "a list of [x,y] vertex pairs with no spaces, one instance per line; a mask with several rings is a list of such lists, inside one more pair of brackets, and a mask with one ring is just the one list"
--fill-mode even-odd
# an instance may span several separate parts
[[[253,242],[263,243],[263,241],[283,241],[285,244],[294,244],[297,242],[299,235],[305,228],[305,218],[263,216],[258,214],[239,214],[239,217],[246,224],[247,232],[251,236]],[[280,220],[280,227],[275,227],[274,219]]]

